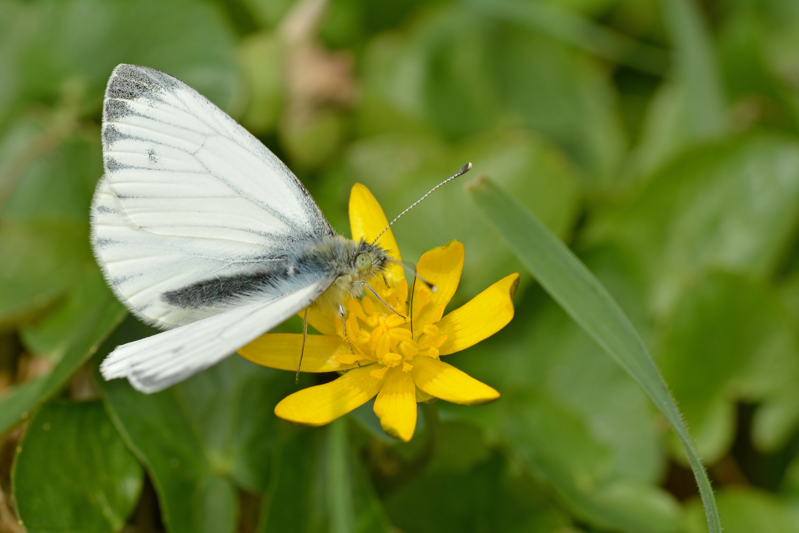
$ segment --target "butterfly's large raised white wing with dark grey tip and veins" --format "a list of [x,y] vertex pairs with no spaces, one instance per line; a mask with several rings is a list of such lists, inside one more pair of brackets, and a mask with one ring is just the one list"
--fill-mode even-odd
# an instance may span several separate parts
[[117,66],[105,91],[102,138],[94,252],[120,300],[149,324],[173,328],[225,312],[229,304],[181,308],[162,295],[248,275],[333,233],[274,154],[168,74]]

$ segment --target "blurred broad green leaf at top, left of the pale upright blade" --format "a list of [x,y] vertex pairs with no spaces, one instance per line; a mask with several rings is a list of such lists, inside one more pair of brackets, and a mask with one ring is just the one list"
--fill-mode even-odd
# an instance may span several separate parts
[[568,154],[587,188],[613,185],[627,141],[607,73],[590,56],[541,34],[509,26],[499,35],[486,68],[503,111]]

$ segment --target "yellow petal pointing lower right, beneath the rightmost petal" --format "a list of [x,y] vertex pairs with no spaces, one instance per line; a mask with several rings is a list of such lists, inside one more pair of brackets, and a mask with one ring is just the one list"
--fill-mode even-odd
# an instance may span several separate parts
[[499,398],[499,392],[451,364],[430,357],[415,357],[411,370],[414,383],[424,392],[454,404],[487,404]]

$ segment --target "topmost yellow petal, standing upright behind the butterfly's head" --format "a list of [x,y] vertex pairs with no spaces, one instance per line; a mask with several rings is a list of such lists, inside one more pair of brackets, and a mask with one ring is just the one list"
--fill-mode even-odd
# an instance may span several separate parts
[[[369,189],[360,183],[352,185],[352,191],[350,191],[349,215],[352,239],[355,241],[364,239],[364,241],[372,242],[375,240],[375,237],[380,235],[380,232],[388,226],[388,220],[380,204],[377,203],[377,200],[372,196],[372,193],[369,192]],[[397,241],[394,240],[394,234],[391,229],[386,230],[386,233],[378,239],[377,244],[380,245],[389,256],[397,261],[402,260],[400,257],[400,249],[397,247]],[[400,283],[400,280],[405,279],[403,268],[393,263],[388,265],[386,269],[386,278],[392,287],[396,287],[397,284]]]

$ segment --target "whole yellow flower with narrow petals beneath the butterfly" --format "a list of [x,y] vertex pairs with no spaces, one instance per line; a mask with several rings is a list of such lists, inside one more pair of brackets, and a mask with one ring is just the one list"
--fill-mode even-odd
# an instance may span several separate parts
[[[364,185],[352,187],[349,214],[353,239],[372,241],[388,225],[383,210]],[[391,230],[378,242],[400,260]],[[511,321],[519,274],[497,281],[463,307],[443,316],[462,268],[463,245],[457,241],[425,253],[416,270],[435,284],[436,291],[416,282],[409,300],[403,268],[392,265],[385,279],[371,285],[380,298],[408,318],[398,316],[367,292],[361,300],[348,301],[346,340],[340,317],[310,308],[308,322],[322,335],[308,335],[302,370],[347,372],[328,384],[284,398],[275,414],[296,424],[320,426],[377,396],[375,413],[380,425],[389,435],[407,441],[416,427],[418,401],[435,396],[455,404],[475,405],[499,398],[495,389],[439,357],[468,348]],[[239,354],[257,364],[293,371],[301,344],[300,334],[271,333],[244,346]]]

